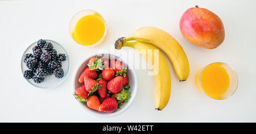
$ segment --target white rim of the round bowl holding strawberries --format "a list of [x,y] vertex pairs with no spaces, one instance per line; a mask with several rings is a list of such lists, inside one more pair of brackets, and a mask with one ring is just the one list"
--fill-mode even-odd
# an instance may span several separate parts
[[[76,70],[75,72],[73,73],[73,81],[72,81],[72,92],[74,92],[76,90],[76,87],[75,87],[75,83],[76,83],[76,74],[80,68],[80,66],[82,64],[84,64],[84,62],[86,60],[88,60],[90,57],[93,57],[93,56],[96,56],[96,55],[102,55],[102,54],[107,54],[107,55],[113,55],[113,56],[117,56],[118,58],[122,58],[122,56],[119,56],[119,55],[116,55],[115,53],[112,53],[112,52],[103,52],[103,53],[92,53],[88,56],[86,56],[83,60],[81,60],[80,64],[77,65],[76,67]],[[131,65],[129,62],[127,62],[126,60],[123,60],[126,62],[127,65]],[[113,113],[109,113],[109,114],[100,114],[98,113],[97,111],[95,112],[92,112],[92,111],[89,111],[87,110],[85,107],[84,107],[84,104],[82,104],[81,102],[77,101],[76,99],[73,99],[75,100],[77,103],[79,103],[80,107],[82,109],[84,109],[86,112],[88,112],[89,114],[91,115],[94,115],[94,116],[97,116],[97,117],[100,117],[100,118],[113,118],[115,116],[118,116],[118,115],[121,115],[123,112],[125,112],[128,108],[130,108],[130,106],[134,103],[135,101],[135,98],[137,97],[137,93],[138,93],[138,77],[137,77],[137,73],[135,71],[135,69],[133,69],[133,67],[130,67],[130,71],[131,73],[134,75],[134,91],[133,91],[133,94],[131,95],[131,98],[129,99],[129,102],[126,104],[125,107],[123,107],[121,110],[119,110],[118,112],[113,112]]]

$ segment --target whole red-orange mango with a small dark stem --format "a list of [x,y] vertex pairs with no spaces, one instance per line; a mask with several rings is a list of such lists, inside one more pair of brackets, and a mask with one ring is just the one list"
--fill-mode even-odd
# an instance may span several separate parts
[[186,40],[207,49],[217,48],[225,39],[222,20],[212,11],[199,6],[183,13],[180,31]]

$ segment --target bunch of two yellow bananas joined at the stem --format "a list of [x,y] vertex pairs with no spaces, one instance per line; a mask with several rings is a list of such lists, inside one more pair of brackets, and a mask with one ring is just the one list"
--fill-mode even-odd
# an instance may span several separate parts
[[[131,42],[132,41],[132,42]],[[132,35],[121,37],[115,41],[115,49],[131,47],[138,52],[144,50],[162,49],[171,60],[179,81],[185,81],[189,76],[189,63],[185,52],[180,44],[169,33],[155,27],[139,28]],[[152,53],[146,51],[147,56],[142,55],[147,61],[154,61]],[[159,51],[159,65],[151,65],[151,69],[159,69],[159,73],[154,76],[155,81],[155,108],[163,110],[166,107],[171,95],[171,76],[168,64],[163,54]]]

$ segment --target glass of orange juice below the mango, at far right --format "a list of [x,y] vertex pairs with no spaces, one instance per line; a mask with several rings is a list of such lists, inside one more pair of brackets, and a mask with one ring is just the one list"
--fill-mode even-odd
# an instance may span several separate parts
[[237,73],[228,64],[214,62],[199,70],[196,85],[201,93],[213,99],[226,99],[237,90]]

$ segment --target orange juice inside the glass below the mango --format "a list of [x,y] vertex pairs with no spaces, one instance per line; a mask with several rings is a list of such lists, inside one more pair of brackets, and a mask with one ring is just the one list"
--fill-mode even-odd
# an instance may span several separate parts
[[[203,72],[202,72],[203,71]],[[196,76],[197,87],[214,99],[224,98],[229,88],[230,78],[222,63],[210,64]]]

